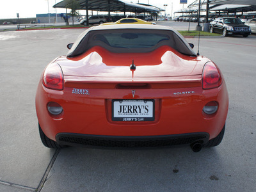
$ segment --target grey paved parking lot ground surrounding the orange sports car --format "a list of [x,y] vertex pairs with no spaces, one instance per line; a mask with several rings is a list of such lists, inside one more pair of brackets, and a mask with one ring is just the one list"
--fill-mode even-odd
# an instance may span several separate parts
[[[186,22],[160,24],[188,27]],[[218,147],[198,153],[189,146],[45,148],[38,133],[36,87],[45,66],[67,54],[67,44],[83,31],[0,33],[0,191],[255,191],[255,35],[200,40],[200,54],[217,63],[228,88],[226,131]],[[197,52],[198,39],[187,40]]]

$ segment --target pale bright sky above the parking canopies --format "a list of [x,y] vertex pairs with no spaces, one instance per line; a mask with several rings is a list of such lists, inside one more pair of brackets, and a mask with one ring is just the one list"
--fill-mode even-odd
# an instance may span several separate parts
[[[55,13],[55,8],[52,6],[59,3],[61,0],[0,0],[0,19],[13,19],[17,18],[19,13],[20,18],[36,17],[36,14],[48,13],[48,7],[50,13]],[[180,4],[180,0],[125,0],[133,3],[145,3],[152,4],[164,10],[164,4],[166,6],[166,14],[173,13],[183,8],[183,4]],[[186,8],[189,4],[195,0],[188,0],[188,4],[184,4]],[[49,3],[49,6],[48,6]],[[64,13],[65,9],[57,8],[57,13]],[[86,14],[84,11],[80,11],[81,14]],[[89,12],[90,14],[90,12]],[[163,13],[164,14],[164,13]]]

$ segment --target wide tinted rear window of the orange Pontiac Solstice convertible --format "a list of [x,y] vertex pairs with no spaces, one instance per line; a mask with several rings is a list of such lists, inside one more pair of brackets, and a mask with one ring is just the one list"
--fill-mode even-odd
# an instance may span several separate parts
[[151,52],[163,45],[168,45],[182,54],[195,56],[188,43],[185,43],[175,32],[156,29],[90,31],[74,43],[68,56],[78,56],[95,46],[111,52]]

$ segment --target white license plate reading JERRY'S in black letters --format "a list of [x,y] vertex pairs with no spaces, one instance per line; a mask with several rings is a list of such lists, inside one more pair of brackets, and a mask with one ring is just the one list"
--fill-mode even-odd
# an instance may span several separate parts
[[155,100],[112,100],[112,120],[145,122],[155,120]]

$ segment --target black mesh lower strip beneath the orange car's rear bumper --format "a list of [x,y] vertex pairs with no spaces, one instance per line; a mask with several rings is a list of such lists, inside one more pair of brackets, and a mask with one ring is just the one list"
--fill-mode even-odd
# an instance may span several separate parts
[[59,133],[56,141],[60,145],[110,148],[150,148],[170,147],[172,145],[191,144],[199,141],[207,143],[207,132],[175,134],[165,136],[99,136],[90,134]]

